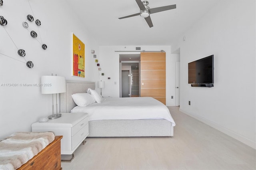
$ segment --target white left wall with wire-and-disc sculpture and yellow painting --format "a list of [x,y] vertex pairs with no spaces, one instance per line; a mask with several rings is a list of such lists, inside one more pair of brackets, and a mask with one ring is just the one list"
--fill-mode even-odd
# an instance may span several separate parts
[[[42,75],[51,73],[73,80],[99,79],[97,66],[91,64],[95,63],[91,49],[98,55],[98,45],[86,32],[85,26],[73,16],[70,7],[61,0],[29,2],[34,14],[28,0],[7,0],[0,6],[0,16],[8,21],[7,26],[0,26],[0,53],[14,58],[0,54],[0,138],[16,131],[30,131],[31,124],[39,117],[52,113],[51,95],[42,95],[40,87],[22,87],[20,83],[40,83]],[[28,29],[38,33],[39,42],[23,28],[22,22],[26,20],[27,14],[41,21],[39,32],[42,42],[48,46],[46,50],[41,48],[40,35],[34,22],[27,21]],[[4,28],[18,48],[26,51],[25,59],[34,63],[32,69],[23,63],[24,59],[17,54]],[[71,32],[85,43],[86,78],[71,76]],[[18,87],[2,85],[6,83],[18,83]]]

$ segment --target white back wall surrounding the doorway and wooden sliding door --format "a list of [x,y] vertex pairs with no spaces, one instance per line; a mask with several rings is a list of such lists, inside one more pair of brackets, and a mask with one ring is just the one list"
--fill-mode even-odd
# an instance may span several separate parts
[[[105,88],[102,89],[103,96],[119,97],[119,54],[140,54],[140,52],[115,52],[135,51],[135,47],[141,47],[146,51],[166,51],[166,105],[175,106],[175,63],[179,60],[177,55],[171,54],[170,46],[100,46],[100,63],[102,72],[105,73],[100,79],[105,81]],[[108,80],[110,77],[110,80]],[[115,84],[116,82],[116,84]]]

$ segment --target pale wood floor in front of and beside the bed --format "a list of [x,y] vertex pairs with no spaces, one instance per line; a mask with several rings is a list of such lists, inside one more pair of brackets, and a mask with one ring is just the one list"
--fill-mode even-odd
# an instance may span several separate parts
[[255,170],[256,150],[168,107],[173,137],[86,138],[63,170]]

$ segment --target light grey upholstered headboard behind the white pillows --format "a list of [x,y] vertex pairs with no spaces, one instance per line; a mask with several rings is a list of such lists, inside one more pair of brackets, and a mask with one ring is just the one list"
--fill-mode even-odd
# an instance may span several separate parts
[[66,93],[60,93],[60,112],[70,113],[76,106],[72,99],[74,93],[86,93],[88,88],[95,89],[95,83],[90,81],[66,80]]

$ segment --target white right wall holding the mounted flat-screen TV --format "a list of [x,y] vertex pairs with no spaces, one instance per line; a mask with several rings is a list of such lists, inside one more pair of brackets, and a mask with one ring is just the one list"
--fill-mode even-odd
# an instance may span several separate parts
[[[172,44],[173,50],[180,47],[180,110],[253,148],[255,7],[255,0],[223,0]],[[191,87],[188,63],[212,54],[214,87]]]

